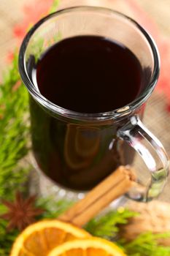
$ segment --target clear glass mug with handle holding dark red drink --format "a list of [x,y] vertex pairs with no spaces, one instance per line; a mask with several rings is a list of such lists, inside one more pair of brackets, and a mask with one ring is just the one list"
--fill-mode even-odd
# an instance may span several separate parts
[[[61,108],[39,92],[33,79],[39,57],[56,42],[80,35],[113,39],[134,53],[144,78],[139,97],[122,108],[86,114]],[[20,48],[19,69],[30,94],[31,140],[36,168],[45,178],[42,190],[50,182],[63,195],[71,191],[80,195],[119,165],[130,165],[135,150],[144,160],[150,178],[147,184],[139,178],[143,189],[136,186],[128,197],[139,201],[158,197],[169,172],[169,159],[161,142],[141,119],[159,68],[158,50],[147,31],[113,10],[72,7],[48,15],[28,31]]]

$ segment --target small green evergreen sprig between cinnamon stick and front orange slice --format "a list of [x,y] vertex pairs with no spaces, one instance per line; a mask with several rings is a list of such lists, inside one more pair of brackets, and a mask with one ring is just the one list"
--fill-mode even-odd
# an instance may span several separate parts
[[115,238],[119,232],[118,225],[125,225],[128,223],[128,219],[134,216],[136,216],[134,211],[121,207],[117,211],[109,211],[103,216],[90,220],[85,226],[85,230],[93,236]]

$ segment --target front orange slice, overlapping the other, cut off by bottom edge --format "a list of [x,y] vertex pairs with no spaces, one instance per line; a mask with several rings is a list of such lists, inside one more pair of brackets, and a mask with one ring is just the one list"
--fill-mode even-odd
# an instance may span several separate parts
[[74,240],[55,247],[47,256],[125,256],[115,244],[101,238]]

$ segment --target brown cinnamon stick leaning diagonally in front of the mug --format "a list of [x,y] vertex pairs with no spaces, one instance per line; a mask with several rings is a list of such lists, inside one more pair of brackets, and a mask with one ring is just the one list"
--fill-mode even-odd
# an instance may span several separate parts
[[120,166],[110,176],[101,181],[94,189],[77,202],[58,219],[81,227],[106,208],[117,197],[128,192],[135,176],[129,167]]

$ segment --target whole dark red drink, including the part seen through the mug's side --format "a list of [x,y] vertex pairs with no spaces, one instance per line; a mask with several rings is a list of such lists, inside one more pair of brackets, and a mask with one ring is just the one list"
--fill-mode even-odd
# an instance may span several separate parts
[[[68,110],[104,113],[130,103],[142,91],[142,67],[128,48],[104,37],[72,37],[39,59],[28,60],[41,94]],[[36,71],[36,72],[35,72]],[[134,154],[117,129],[128,121],[81,122],[45,110],[32,97],[31,134],[36,161],[57,184],[87,190]]]

